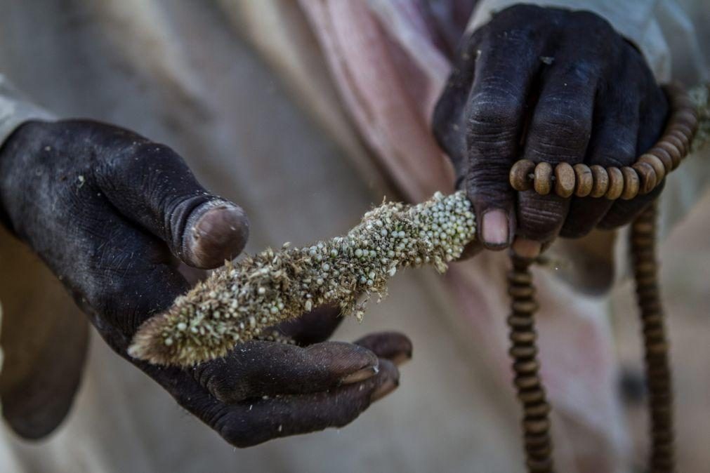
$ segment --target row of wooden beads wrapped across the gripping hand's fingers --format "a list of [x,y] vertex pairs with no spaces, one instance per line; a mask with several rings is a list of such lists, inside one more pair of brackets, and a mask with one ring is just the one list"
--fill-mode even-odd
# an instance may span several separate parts
[[678,85],[664,87],[670,103],[670,117],[661,138],[630,166],[601,167],[578,163],[518,160],[510,168],[510,185],[516,191],[535,190],[547,195],[555,192],[567,199],[604,197],[610,200],[633,199],[655,189],[688,155],[698,128],[695,106],[686,91]]

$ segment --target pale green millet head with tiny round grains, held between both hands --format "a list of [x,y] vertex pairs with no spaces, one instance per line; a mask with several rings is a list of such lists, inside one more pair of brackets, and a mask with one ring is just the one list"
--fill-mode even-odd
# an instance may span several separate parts
[[361,320],[371,294],[386,296],[387,279],[399,269],[430,264],[444,272],[475,234],[462,191],[437,192],[414,206],[382,204],[347,235],[310,247],[286,243],[217,269],[146,321],[129,354],[158,365],[214,360],[246,340],[281,341],[268,329],[323,304]]

